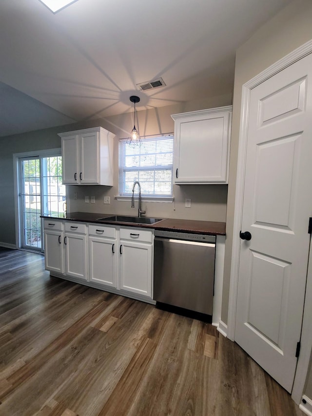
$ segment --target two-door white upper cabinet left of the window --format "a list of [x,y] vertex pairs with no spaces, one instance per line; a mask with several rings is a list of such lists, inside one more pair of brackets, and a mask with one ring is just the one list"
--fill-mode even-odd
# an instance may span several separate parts
[[64,184],[113,186],[113,133],[96,127],[59,136]]

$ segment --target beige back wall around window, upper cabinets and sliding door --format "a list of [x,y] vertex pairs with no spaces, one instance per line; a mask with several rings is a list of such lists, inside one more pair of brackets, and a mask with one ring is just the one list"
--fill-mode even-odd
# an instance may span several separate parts
[[[171,118],[171,114],[225,106],[231,103],[232,95],[230,94],[148,111],[138,111],[136,124],[141,136],[173,133],[174,121]],[[68,207],[71,211],[90,211],[103,214],[134,215],[136,213],[134,209],[131,209],[129,201],[124,202],[114,199],[114,196],[118,194],[118,139],[128,137],[129,131],[133,127],[133,112],[108,119],[68,124],[66,126],[3,137],[0,138],[0,245],[14,246],[16,244],[13,154],[60,147],[58,133],[95,126],[102,126],[116,134],[114,186],[68,186]],[[73,199],[74,191],[78,192],[77,200]],[[96,203],[86,204],[84,197],[87,195],[89,197],[95,196]],[[144,202],[143,209],[146,209],[148,216],[225,221],[227,185],[174,186],[174,195],[175,203]],[[110,205],[103,204],[104,196],[111,197]],[[185,198],[192,199],[191,208],[185,208]]]

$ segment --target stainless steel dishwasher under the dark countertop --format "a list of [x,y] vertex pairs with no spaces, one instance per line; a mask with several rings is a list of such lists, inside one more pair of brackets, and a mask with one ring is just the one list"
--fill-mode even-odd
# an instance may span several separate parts
[[213,313],[215,237],[155,230],[154,300]]

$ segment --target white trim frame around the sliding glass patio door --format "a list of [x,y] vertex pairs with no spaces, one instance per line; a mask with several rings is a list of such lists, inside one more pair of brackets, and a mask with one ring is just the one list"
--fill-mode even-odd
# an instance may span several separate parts
[[[19,216],[19,196],[18,196],[18,179],[19,179],[19,167],[18,162],[20,158],[41,158],[50,157],[51,154],[61,154],[60,147],[54,149],[44,149],[31,152],[21,152],[13,154],[13,177],[14,177],[14,208],[15,208],[15,249],[21,248],[21,236],[20,236],[20,216]],[[40,253],[40,251],[38,251]],[[42,253],[42,251],[41,251]]]

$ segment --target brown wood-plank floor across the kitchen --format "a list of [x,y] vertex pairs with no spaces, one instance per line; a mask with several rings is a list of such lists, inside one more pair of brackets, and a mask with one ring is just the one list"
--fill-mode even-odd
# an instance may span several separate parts
[[294,416],[209,323],[88,288],[0,248],[0,415]]

